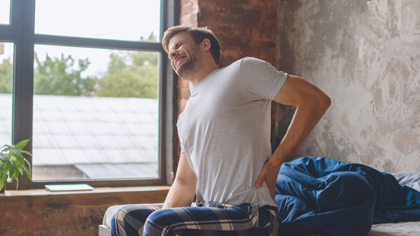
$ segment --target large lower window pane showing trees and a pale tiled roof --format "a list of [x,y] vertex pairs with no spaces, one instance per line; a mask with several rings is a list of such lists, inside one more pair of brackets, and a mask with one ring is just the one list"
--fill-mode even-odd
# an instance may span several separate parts
[[159,53],[35,54],[34,180],[158,178]]

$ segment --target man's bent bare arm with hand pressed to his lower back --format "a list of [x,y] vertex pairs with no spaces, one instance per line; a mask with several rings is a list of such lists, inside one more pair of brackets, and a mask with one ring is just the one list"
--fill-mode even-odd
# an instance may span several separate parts
[[274,98],[277,103],[295,105],[295,115],[279,147],[269,158],[260,173],[255,187],[267,182],[270,195],[276,196],[276,179],[281,164],[308,137],[325,111],[330,107],[331,99],[313,84],[295,75],[288,75],[286,82]]

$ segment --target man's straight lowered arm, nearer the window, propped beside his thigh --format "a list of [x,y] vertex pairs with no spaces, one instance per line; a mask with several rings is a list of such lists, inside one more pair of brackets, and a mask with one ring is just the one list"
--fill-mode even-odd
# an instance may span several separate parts
[[165,200],[162,209],[172,207],[190,207],[197,189],[197,176],[190,168],[185,153],[181,154],[174,184]]

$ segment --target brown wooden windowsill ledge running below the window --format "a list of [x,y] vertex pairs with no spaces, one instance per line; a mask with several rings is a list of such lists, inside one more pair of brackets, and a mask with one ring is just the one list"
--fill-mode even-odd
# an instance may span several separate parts
[[45,189],[6,189],[6,193],[0,193],[0,209],[3,212],[15,212],[156,203],[165,201],[169,188],[170,186],[141,186],[62,192],[50,192]]

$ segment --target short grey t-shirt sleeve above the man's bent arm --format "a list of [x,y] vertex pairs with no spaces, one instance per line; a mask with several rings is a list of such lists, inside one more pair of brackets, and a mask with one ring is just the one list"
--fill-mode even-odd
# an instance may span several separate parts
[[267,61],[253,57],[245,57],[240,65],[241,78],[239,84],[247,96],[253,100],[273,100],[279,93],[287,78],[287,73],[277,71]]

